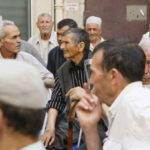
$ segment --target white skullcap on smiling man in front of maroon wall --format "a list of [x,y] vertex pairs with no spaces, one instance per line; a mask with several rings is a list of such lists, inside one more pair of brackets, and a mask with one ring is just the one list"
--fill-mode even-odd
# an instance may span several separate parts
[[102,25],[102,19],[96,16],[90,16],[86,19],[86,25],[90,23],[98,24],[100,27]]

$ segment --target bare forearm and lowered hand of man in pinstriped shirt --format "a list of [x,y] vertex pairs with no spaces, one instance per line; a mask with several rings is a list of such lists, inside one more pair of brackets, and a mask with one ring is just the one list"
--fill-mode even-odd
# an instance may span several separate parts
[[45,133],[40,137],[45,147],[51,145],[55,141],[55,123],[58,115],[58,110],[50,108],[48,111],[48,124]]

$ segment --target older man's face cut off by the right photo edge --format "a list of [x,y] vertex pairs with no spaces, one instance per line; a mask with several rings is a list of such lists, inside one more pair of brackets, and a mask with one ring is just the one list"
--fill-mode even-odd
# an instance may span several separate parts
[[142,49],[146,56],[145,73],[143,76],[143,84],[150,84],[150,48],[142,46]]

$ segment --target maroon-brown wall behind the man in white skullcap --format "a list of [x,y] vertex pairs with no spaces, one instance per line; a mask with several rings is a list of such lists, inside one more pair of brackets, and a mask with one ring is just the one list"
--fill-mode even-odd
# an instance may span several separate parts
[[[137,42],[141,39],[143,33],[148,31],[150,22],[150,0],[86,0],[84,21],[88,16],[95,15],[103,19],[102,36],[105,39],[113,37],[130,37]],[[146,20],[128,20],[127,6],[146,5]],[[138,10],[138,13],[140,9]],[[131,15],[134,15],[134,11]],[[135,17],[141,17],[141,14]]]

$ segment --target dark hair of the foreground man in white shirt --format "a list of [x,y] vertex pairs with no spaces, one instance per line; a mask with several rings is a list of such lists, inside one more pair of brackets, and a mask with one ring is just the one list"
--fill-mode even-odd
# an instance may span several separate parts
[[[128,42],[127,42],[128,43]],[[113,43],[109,40],[99,44],[94,49],[94,54],[103,50],[101,66],[109,71],[116,68],[128,82],[141,81],[145,69],[145,55],[142,49],[136,45]]]

